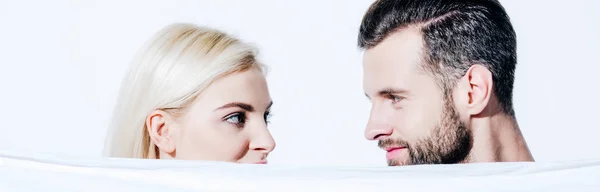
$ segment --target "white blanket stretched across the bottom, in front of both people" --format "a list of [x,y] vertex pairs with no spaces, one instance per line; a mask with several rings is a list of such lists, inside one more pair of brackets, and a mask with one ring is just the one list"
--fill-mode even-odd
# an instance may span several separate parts
[[242,165],[0,151],[0,191],[600,191],[600,160],[405,167]]

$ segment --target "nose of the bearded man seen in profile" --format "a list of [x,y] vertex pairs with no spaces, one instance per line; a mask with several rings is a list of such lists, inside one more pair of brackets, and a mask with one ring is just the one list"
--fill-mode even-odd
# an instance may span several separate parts
[[385,114],[376,109],[371,109],[369,121],[365,129],[365,138],[367,140],[382,140],[392,135],[394,129],[385,119]]

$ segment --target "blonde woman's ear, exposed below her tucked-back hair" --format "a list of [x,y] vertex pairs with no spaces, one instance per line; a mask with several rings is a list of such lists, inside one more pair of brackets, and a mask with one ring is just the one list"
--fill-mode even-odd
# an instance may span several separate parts
[[175,152],[175,141],[169,134],[173,126],[174,123],[170,114],[164,111],[154,110],[146,117],[146,128],[148,129],[150,140],[160,151],[167,154]]

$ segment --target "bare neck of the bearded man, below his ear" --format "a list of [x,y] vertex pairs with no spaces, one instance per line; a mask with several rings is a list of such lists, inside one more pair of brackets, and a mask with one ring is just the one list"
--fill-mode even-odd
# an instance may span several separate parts
[[516,119],[504,113],[471,119],[473,148],[467,161],[534,161]]

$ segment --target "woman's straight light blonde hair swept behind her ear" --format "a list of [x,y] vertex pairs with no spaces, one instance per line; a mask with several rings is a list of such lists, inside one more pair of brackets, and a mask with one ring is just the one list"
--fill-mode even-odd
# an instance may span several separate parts
[[153,110],[186,108],[213,81],[251,68],[265,72],[250,44],[221,31],[176,23],[158,31],[139,50],[123,80],[104,154],[157,158],[145,119]]

